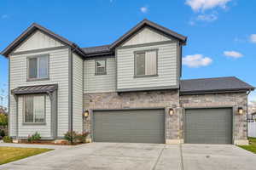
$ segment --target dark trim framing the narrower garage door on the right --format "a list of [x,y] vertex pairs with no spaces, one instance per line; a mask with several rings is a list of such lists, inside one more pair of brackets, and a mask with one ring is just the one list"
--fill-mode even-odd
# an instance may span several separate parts
[[235,127],[234,127],[234,122],[235,122],[235,116],[234,114],[236,114],[234,111],[236,111],[235,106],[233,105],[226,105],[226,106],[208,106],[208,107],[183,107],[183,141],[185,142],[185,125],[186,125],[186,119],[185,119],[185,114],[186,114],[186,110],[196,110],[196,109],[231,109],[231,129],[232,129],[232,133],[231,133],[231,143],[234,144],[234,131],[235,131]]

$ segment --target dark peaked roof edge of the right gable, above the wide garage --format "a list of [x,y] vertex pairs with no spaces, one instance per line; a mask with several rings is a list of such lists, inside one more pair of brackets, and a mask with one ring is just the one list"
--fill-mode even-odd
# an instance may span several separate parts
[[183,35],[180,35],[177,32],[172,31],[164,26],[160,26],[150,20],[144,19],[143,21],[138,23],[137,26],[134,26],[133,28],[131,28],[130,31],[126,32],[122,37],[119,37],[119,39],[116,40],[115,42],[113,42],[109,48],[110,49],[116,48],[117,46],[119,46],[119,44],[121,44],[122,42],[125,42],[125,40],[127,40],[134,33],[141,30],[145,26],[148,26],[148,27],[153,28],[154,30],[160,31],[168,37],[174,37],[177,40],[179,40],[180,42],[182,42],[183,44],[185,44],[187,41],[187,37],[184,37]]

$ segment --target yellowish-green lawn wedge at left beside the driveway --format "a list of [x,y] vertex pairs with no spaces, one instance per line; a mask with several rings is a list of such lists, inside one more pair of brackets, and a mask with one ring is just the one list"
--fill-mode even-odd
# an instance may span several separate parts
[[28,156],[35,156],[49,150],[50,149],[0,147],[0,165],[10,161],[17,161]]

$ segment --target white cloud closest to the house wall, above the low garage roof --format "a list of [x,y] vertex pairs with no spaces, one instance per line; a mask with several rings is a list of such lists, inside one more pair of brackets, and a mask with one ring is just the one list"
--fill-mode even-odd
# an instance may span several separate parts
[[187,55],[183,58],[183,65],[187,65],[192,68],[207,66],[211,63],[212,59],[210,57],[205,57],[202,54]]

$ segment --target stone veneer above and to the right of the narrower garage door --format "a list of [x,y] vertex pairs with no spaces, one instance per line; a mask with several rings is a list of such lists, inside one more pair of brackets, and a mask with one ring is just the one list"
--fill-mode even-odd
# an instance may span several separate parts
[[[234,144],[247,144],[247,94],[198,94],[181,95],[180,105],[189,107],[233,107],[233,140]],[[238,115],[237,109],[242,107],[244,114]],[[183,120],[181,120],[183,122]]]

